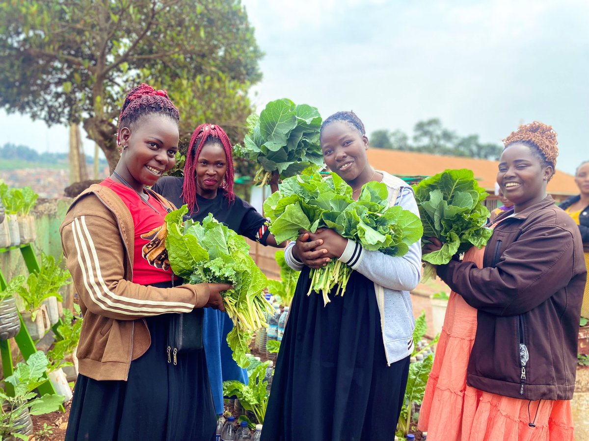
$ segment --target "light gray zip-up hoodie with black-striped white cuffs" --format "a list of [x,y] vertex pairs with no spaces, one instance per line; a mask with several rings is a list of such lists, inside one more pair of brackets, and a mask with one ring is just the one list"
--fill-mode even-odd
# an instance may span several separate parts
[[[400,205],[419,216],[411,186],[396,176],[379,172],[389,190],[389,205]],[[300,271],[303,263],[293,257],[293,246],[294,242],[289,243],[284,257],[290,268]],[[409,246],[405,256],[392,257],[380,251],[366,250],[359,243],[348,240],[339,260],[374,282],[388,365],[411,355],[415,319],[409,291],[417,286],[421,274],[420,241]]]

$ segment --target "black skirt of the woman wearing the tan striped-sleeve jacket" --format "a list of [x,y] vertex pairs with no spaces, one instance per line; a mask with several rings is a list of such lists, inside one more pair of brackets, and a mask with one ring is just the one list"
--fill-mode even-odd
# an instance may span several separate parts
[[65,435],[74,440],[214,440],[216,414],[204,350],[168,363],[171,314],[150,317],[151,346],[131,362],[128,380],[78,375]]

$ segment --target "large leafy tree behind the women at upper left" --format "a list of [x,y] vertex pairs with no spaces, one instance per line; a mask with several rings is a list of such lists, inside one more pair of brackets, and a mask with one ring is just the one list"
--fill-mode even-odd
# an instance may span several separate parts
[[202,112],[237,127],[249,113],[247,89],[261,78],[261,56],[239,0],[0,5],[0,107],[49,125],[83,121],[111,169],[118,161],[114,119],[131,86],[166,88],[181,117],[190,115],[187,125]]

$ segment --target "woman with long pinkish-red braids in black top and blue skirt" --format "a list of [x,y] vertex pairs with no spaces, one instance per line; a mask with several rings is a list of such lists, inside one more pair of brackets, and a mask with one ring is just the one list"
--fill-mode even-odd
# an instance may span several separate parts
[[[277,178],[277,176],[276,176]],[[277,179],[272,190],[276,191]],[[233,158],[231,142],[223,129],[215,124],[196,128],[186,155],[184,178],[161,178],[153,190],[177,207],[188,205],[190,218],[201,222],[209,213],[242,236],[262,245],[282,248],[268,230],[267,219],[253,206],[233,193]],[[227,345],[227,333],[233,328],[227,314],[204,310],[203,342],[209,369],[213,401],[218,414],[223,413],[223,381],[239,380],[247,384],[247,372],[239,368]]]

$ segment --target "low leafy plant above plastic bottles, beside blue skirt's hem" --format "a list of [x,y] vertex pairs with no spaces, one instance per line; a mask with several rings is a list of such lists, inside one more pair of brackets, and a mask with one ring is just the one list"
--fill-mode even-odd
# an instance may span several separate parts
[[268,363],[266,362],[250,371],[247,385],[237,380],[223,382],[223,395],[236,396],[244,409],[254,413],[259,424],[264,423],[266,406],[268,405],[268,382],[264,380],[267,367]]

